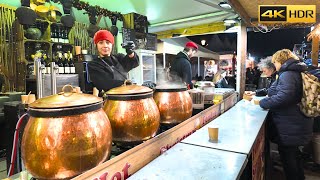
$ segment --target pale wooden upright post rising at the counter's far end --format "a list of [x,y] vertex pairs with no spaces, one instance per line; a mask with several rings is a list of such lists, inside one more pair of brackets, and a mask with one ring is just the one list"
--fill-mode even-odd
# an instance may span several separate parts
[[241,22],[237,40],[237,86],[239,100],[242,99],[246,87],[247,27]]

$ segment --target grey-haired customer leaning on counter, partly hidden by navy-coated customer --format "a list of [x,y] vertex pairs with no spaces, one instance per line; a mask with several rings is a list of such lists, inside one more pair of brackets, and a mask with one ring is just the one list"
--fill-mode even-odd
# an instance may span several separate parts
[[261,62],[258,64],[259,70],[269,79],[268,87],[263,89],[257,89],[256,91],[246,91],[245,93],[249,96],[256,95],[256,96],[266,96],[268,94],[268,88],[271,84],[276,80],[276,67],[272,63],[272,57],[267,57],[262,59]]

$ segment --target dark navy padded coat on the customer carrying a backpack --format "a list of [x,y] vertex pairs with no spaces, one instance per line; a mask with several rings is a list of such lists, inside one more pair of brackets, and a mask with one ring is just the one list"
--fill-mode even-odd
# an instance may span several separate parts
[[270,109],[269,133],[278,144],[300,146],[311,140],[313,120],[304,116],[298,106],[303,92],[301,72],[305,68],[297,60],[287,60],[268,89],[269,97],[260,101],[262,108]]

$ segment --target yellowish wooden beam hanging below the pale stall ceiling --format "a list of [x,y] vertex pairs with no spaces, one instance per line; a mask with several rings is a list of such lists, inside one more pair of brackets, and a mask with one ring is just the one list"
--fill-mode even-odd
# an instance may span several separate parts
[[157,32],[158,39],[172,38],[174,36],[191,36],[198,34],[208,34],[213,32],[221,32],[226,30],[223,22],[202,24],[197,26],[185,27],[180,29],[173,29],[168,31]]

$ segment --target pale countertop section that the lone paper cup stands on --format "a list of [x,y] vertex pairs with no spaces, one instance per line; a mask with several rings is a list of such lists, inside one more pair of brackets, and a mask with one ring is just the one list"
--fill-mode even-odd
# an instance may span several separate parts
[[[268,111],[263,110],[259,105],[242,100],[214,121],[184,139],[182,143],[250,154],[267,113]],[[209,142],[209,126],[219,127],[217,143]]]

